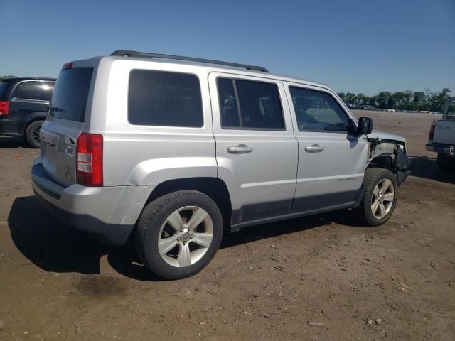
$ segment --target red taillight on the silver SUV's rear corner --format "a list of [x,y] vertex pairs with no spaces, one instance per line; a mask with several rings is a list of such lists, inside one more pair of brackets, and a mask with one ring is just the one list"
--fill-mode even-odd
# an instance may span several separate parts
[[81,133],[76,150],[77,183],[102,186],[102,135]]

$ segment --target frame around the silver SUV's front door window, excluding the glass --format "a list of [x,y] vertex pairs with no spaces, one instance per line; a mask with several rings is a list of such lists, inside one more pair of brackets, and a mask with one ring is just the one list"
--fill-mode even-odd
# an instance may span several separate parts
[[[295,108],[294,108],[294,102],[292,101],[291,87],[300,88],[302,90],[321,92],[322,94],[327,94],[328,96],[330,96],[333,99],[333,102],[338,104],[338,107],[340,107],[341,112],[343,112],[343,114],[345,114],[346,117],[348,118],[348,124],[349,124],[348,125],[348,129],[345,130],[345,131],[340,131],[340,130],[321,130],[321,129],[300,130],[299,129],[299,121],[297,120],[296,111],[295,111]],[[344,107],[346,104],[344,104],[344,103],[342,104],[331,91],[329,91],[328,89],[323,88],[323,87],[316,87],[314,85],[304,85],[304,84],[299,84],[299,83],[294,83],[294,82],[286,82],[285,88],[286,88],[287,94],[289,96],[289,107],[291,108],[291,114],[292,114],[291,116],[292,116],[292,118],[295,121],[294,134],[299,134],[299,133],[301,133],[301,134],[304,134],[304,133],[328,133],[328,134],[346,134],[347,136],[353,135],[353,131],[355,131],[355,129],[356,129],[357,120],[355,119],[355,117],[353,117],[352,114],[350,114],[350,112],[346,111],[346,108]]]

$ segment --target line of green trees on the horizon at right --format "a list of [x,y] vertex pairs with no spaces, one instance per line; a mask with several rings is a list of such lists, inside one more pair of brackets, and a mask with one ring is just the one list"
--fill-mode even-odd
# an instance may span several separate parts
[[403,92],[382,91],[375,96],[365,94],[353,94],[352,92],[339,92],[338,96],[346,104],[361,107],[371,105],[379,109],[422,110],[429,112],[442,112],[446,99],[450,97],[451,90],[444,87],[441,92],[431,90],[416,91],[406,90]]

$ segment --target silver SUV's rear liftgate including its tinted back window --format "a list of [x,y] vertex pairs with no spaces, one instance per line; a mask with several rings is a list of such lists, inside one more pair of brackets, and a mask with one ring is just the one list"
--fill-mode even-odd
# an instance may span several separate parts
[[92,73],[92,67],[75,67],[60,72],[48,119],[41,127],[44,171],[62,185],[76,182],[76,141],[84,125]]

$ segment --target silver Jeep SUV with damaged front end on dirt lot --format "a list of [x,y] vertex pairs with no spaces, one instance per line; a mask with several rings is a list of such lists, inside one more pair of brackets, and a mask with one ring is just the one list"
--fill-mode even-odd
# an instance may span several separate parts
[[196,274],[223,232],[330,210],[386,222],[410,166],[326,85],[264,67],[119,50],[63,65],[32,183],[78,229],[134,233],[163,278]]

